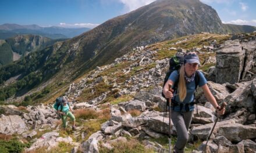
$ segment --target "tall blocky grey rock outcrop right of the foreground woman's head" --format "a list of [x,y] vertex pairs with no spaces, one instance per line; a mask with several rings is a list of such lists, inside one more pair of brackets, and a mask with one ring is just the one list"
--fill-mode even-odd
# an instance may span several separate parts
[[239,82],[245,56],[238,39],[226,41],[216,52],[216,83]]

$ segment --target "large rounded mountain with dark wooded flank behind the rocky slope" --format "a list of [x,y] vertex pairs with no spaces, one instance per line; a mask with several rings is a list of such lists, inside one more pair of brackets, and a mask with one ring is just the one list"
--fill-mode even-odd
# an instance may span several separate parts
[[[0,101],[19,97],[42,84],[56,93],[74,79],[97,66],[111,63],[136,46],[200,32],[228,34],[255,30],[256,27],[249,25],[222,24],[216,11],[199,0],[157,0],[110,19],[78,37],[56,42],[3,66],[0,84],[11,77],[20,77],[16,83],[0,88]],[[46,95],[49,90],[43,93]]]

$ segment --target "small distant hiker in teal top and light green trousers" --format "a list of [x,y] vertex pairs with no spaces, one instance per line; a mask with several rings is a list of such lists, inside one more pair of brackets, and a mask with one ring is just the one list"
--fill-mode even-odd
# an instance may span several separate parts
[[76,130],[76,118],[74,118],[74,115],[72,114],[72,112],[74,113],[74,111],[72,110],[71,107],[69,107],[69,105],[67,104],[67,99],[66,98],[63,98],[62,99],[62,104],[63,105],[59,105],[59,108],[58,108],[58,113],[62,115],[62,126],[63,128],[66,129],[66,126],[67,126],[67,117],[69,117],[71,119],[71,121],[73,122],[73,125],[72,125],[72,130]]

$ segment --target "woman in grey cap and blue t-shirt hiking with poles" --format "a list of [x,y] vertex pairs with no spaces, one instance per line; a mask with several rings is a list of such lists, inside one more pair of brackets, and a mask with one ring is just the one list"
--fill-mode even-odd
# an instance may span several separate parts
[[[163,88],[165,97],[172,99],[171,119],[177,130],[177,141],[173,152],[184,152],[184,147],[189,139],[188,130],[194,110],[195,73],[199,65],[200,61],[197,54],[187,53],[184,56],[184,63],[179,72],[173,71]],[[218,114],[223,115],[225,108],[220,110],[221,107],[216,102],[214,96],[212,96],[204,75],[200,71],[197,72],[199,73],[198,86],[202,88],[205,97],[214,106]],[[177,91],[173,93],[173,89],[169,90],[169,86],[173,87],[178,80]]]

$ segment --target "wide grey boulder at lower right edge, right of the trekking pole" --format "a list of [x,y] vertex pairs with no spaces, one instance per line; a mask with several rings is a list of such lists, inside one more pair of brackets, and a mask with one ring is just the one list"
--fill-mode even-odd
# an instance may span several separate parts
[[219,128],[219,136],[226,137],[229,141],[239,142],[256,138],[256,127],[241,125],[239,123],[223,125]]

